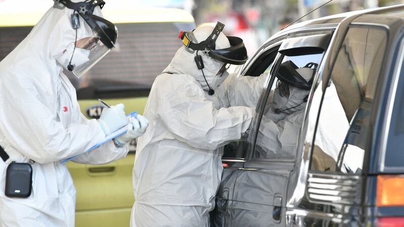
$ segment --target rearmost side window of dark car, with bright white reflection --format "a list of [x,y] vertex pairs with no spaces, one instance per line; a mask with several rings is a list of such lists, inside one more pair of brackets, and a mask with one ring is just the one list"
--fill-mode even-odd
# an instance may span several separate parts
[[311,171],[362,172],[386,43],[382,28],[348,29],[324,93]]

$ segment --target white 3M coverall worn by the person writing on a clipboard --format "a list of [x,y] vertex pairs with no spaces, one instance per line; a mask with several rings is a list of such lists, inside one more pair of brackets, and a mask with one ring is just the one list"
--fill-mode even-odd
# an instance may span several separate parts
[[[96,120],[81,114],[76,91],[56,58],[74,45],[73,10],[49,9],[29,35],[0,62],[0,145],[9,161],[32,164],[28,198],[4,194],[7,163],[0,159],[0,226],[74,226],[76,191],[60,160],[83,153],[105,137]],[[95,15],[100,15],[97,7]],[[86,37],[81,25],[78,39]],[[113,142],[75,162],[102,164],[124,157]]]

